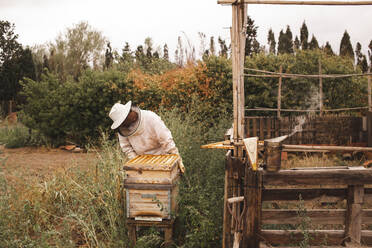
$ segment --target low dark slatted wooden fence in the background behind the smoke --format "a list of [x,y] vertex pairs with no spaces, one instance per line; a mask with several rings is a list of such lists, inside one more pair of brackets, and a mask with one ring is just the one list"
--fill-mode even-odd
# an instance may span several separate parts
[[285,144],[367,143],[367,118],[354,116],[245,117],[245,134],[260,140],[287,135],[298,125],[298,118],[304,118],[302,131],[286,139]]

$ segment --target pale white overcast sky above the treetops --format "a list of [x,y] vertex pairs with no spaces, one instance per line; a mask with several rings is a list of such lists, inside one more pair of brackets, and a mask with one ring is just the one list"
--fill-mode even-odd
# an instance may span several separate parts
[[[258,26],[258,41],[267,43],[270,28],[275,39],[281,29],[291,27],[293,38],[306,21],[309,39],[314,34],[320,45],[329,41],[339,52],[345,30],[366,53],[372,40],[372,6],[280,6],[249,5],[248,14]],[[18,41],[24,46],[55,40],[59,33],[80,21],[87,21],[121,50],[129,42],[132,50],[150,37],[156,46],[168,44],[174,54],[177,37],[200,44],[198,32],[215,41],[220,36],[230,44],[231,6],[217,0],[0,0],[0,19],[15,24]]]

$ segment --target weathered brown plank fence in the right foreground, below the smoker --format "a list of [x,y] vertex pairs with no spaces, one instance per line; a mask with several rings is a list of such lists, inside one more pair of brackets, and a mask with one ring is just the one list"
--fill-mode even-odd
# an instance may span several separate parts
[[[246,201],[234,209],[247,206],[240,247],[372,246],[371,183],[364,167],[252,171],[229,152],[225,199]],[[225,206],[223,247],[232,247],[234,225]]]

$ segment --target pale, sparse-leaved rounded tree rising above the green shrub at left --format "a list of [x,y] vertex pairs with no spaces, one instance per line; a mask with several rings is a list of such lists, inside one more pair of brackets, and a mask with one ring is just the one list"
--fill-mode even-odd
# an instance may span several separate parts
[[102,33],[87,22],[67,28],[64,34],[56,38],[55,43],[49,45],[49,60],[54,64],[51,69],[61,79],[71,75],[77,81],[86,68],[103,67],[105,43]]

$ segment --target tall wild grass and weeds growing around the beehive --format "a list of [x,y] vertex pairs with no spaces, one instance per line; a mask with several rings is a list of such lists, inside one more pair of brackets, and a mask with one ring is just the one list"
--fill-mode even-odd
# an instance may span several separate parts
[[[221,139],[229,121],[205,124],[197,111],[185,115],[173,110],[161,116],[186,167],[173,245],[220,246],[224,152],[200,145]],[[72,167],[37,185],[8,181],[0,163],[0,247],[130,247],[121,189],[126,158],[115,140],[102,139],[99,159],[91,168]],[[163,244],[159,230],[150,230],[137,247]]]

